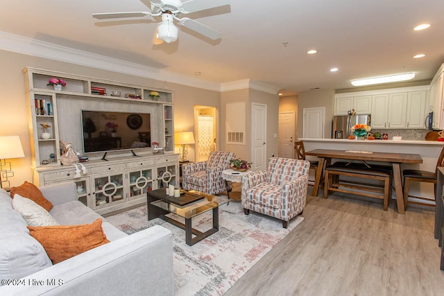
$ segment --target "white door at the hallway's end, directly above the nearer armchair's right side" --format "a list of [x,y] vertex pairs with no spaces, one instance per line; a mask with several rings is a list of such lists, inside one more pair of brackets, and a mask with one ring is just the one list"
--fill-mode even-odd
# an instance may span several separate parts
[[294,112],[280,112],[278,123],[278,155],[279,157],[294,157]]

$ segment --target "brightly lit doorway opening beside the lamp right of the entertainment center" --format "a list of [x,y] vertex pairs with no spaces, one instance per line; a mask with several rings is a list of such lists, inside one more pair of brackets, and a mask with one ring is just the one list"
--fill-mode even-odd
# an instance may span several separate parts
[[210,152],[218,149],[216,141],[217,110],[215,107],[194,106],[194,134],[196,149],[194,159],[196,162],[205,162]]

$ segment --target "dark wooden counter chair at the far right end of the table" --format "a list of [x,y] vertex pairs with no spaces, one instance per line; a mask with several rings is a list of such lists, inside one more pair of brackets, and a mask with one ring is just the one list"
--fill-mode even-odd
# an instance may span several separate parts
[[[420,200],[428,200],[428,201],[434,201],[434,198],[422,198],[420,196],[414,196],[409,195],[409,189],[410,189],[410,182],[427,182],[427,183],[433,183],[434,184],[434,192],[436,196],[436,182],[437,182],[437,173],[438,173],[438,167],[444,166],[444,148],[441,150],[441,154],[438,157],[438,162],[436,163],[436,168],[434,172],[429,171],[421,171],[421,170],[404,170],[402,171],[402,175],[404,175],[404,204],[407,205],[408,198],[411,196],[412,198],[418,198]],[[426,206],[434,207],[434,204],[426,203],[426,202],[412,202],[411,204],[422,204]]]

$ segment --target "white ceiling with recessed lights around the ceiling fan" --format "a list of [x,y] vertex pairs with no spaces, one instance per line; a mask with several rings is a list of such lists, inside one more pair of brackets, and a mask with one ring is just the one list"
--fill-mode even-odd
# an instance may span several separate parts
[[[443,0],[231,0],[186,15],[221,32],[220,40],[179,26],[177,42],[157,46],[154,19],[92,17],[149,11],[145,0],[0,1],[6,33],[191,77],[200,71],[209,82],[258,80],[286,93],[350,88],[355,78],[407,71],[431,79],[444,62]],[[423,22],[432,26],[412,31]],[[418,53],[425,58],[413,59]]]

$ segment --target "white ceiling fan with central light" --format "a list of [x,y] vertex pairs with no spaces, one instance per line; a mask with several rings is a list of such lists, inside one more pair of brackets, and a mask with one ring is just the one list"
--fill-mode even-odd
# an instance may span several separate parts
[[[143,2],[143,1],[142,1]],[[151,12],[107,12],[94,13],[96,19],[118,19],[123,17],[162,17],[162,21],[157,24],[153,37],[153,44],[171,43],[178,39],[178,28],[174,25],[174,20],[180,26],[185,26],[205,37],[217,40],[221,33],[210,27],[200,24],[188,17],[179,18],[180,15],[200,10],[206,10],[230,3],[229,0],[189,0],[182,3],[180,0],[157,0],[151,1]]]

